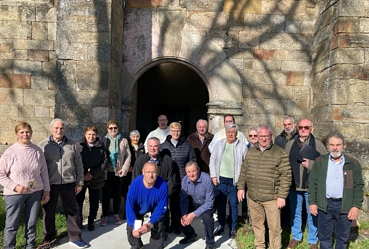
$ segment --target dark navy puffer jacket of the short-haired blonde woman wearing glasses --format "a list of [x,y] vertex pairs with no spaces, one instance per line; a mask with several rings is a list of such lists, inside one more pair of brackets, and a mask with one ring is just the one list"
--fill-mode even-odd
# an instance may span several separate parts
[[[196,161],[195,151],[191,144],[186,140],[185,135],[180,134],[178,143],[176,146],[171,143],[171,135],[167,135],[167,139],[161,144],[161,151],[165,155],[169,155],[178,166],[180,172],[180,180],[186,176],[185,166],[189,161]],[[179,182],[180,183],[180,182]]]

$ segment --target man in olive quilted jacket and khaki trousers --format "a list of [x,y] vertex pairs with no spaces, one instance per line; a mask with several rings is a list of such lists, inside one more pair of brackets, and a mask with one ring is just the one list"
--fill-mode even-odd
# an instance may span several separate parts
[[291,167],[287,153],[272,142],[272,130],[267,124],[258,128],[259,143],[248,149],[241,166],[237,183],[237,197],[245,198],[245,185],[248,185],[248,198],[254,244],[265,248],[265,216],[269,226],[269,248],[278,249],[282,245],[281,211],[291,185]]

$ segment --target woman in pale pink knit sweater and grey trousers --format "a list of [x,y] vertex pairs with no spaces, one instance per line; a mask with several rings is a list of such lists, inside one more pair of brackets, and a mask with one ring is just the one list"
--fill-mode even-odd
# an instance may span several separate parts
[[25,248],[36,248],[36,220],[40,202],[49,200],[49,175],[43,150],[32,144],[32,127],[15,127],[18,142],[0,158],[0,184],[4,187],[6,220],[3,248],[15,248],[16,231],[24,207]]

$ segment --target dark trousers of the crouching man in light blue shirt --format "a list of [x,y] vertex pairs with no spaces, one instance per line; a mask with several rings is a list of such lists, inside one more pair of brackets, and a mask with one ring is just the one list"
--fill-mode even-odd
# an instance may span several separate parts
[[[217,205],[217,198],[215,198],[215,203],[213,205],[213,209],[204,211],[202,213],[202,223],[204,224],[204,235],[205,235],[205,243],[208,247],[215,246],[215,239],[214,239],[214,213],[217,210],[215,207]],[[192,213],[196,209],[198,209],[200,206],[193,205],[192,198],[189,198],[189,211],[187,213]],[[182,217],[182,213],[180,209],[176,210],[176,218],[180,224],[180,228],[182,229],[183,234],[186,237],[190,237],[191,235],[195,234],[195,229],[189,224],[188,226],[182,226],[180,223],[180,218]]]

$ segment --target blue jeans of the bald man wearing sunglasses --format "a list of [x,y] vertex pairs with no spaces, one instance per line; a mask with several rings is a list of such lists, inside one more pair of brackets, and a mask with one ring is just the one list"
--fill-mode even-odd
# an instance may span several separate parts
[[289,202],[291,203],[291,231],[294,239],[301,241],[302,239],[302,205],[305,205],[307,209],[307,228],[309,235],[307,237],[307,243],[317,244],[318,243],[318,218],[311,215],[309,211],[309,203],[307,191],[296,191],[289,190]]

